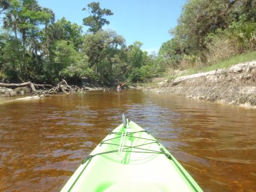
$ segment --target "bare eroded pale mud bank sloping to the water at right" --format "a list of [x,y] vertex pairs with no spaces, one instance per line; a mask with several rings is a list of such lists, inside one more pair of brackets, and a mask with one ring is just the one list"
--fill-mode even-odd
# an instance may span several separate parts
[[178,77],[146,91],[256,108],[256,61]]

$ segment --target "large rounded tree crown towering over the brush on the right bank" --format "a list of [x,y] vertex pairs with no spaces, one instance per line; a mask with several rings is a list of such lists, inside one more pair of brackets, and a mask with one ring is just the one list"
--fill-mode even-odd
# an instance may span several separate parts
[[193,50],[205,48],[205,37],[229,24],[228,0],[190,0],[183,6],[178,25],[170,34]]

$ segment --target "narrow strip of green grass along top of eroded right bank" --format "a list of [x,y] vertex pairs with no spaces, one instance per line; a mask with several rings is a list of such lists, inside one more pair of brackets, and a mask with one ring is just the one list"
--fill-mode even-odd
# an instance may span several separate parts
[[197,74],[197,73],[203,73],[203,72],[208,72],[208,71],[213,71],[217,69],[225,69],[227,67],[236,65],[238,63],[245,63],[245,62],[250,62],[256,60],[256,51],[250,52],[250,53],[245,53],[241,55],[235,55],[234,57],[230,57],[228,59],[219,61],[217,63],[214,63],[211,66],[205,66],[202,67],[201,69],[195,69],[194,67],[187,68],[185,72],[179,73],[179,74],[174,74],[174,75],[169,75],[167,78],[169,81],[185,76],[185,75],[192,75],[192,74]]

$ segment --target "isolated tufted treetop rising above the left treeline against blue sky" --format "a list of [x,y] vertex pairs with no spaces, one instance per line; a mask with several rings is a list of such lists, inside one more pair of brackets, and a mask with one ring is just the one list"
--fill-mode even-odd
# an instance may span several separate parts
[[110,9],[101,9],[99,2],[91,2],[87,5],[87,9],[83,8],[82,10],[87,10],[90,14],[89,17],[83,18],[83,25],[89,26],[89,31],[96,33],[102,29],[102,26],[105,24],[109,25],[109,21],[105,19],[105,16],[113,15]]

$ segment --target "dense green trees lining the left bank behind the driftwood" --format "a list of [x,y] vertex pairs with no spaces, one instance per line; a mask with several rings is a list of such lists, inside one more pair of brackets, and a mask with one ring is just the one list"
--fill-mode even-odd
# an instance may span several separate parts
[[139,41],[126,47],[121,35],[102,30],[109,24],[106,16],[113,15],[111,10],[101,9],[99,2],[89,3],[83,10],[90,14],[83,25],[92,32],[85,35],[77,23],[65,18],[55,22],[54,12],[36,0],[1,1],[0,78],[35,83],[86,78],[110,85],[143,82],[165,71],[165,56],[148,54]]

